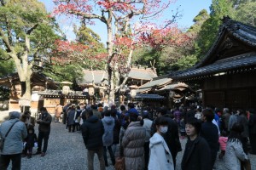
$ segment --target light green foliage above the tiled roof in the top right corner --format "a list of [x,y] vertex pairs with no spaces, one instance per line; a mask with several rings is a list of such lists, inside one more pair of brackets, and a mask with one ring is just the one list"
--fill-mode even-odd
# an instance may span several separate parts
[[250,26],[256,26],[256,1],[241,3],[236,8],[235,19]]

